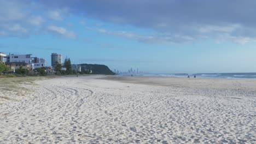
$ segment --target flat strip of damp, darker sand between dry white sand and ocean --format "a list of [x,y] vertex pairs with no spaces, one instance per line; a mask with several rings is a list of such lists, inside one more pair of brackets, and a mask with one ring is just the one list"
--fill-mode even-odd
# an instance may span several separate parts
[[120,81],[154,86],[176,86],[187,88],[216,88],[216,89],[243,89],[256,91],[256,80],[253,79],[211,79],[185,77],[158,77],[158,76],[106,76],[102,80]]

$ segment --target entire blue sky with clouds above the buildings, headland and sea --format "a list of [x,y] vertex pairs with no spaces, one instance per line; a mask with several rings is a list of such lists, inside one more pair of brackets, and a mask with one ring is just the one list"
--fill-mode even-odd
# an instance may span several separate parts
[[0,52],[147,73],[256,72],[256,1],[0,1]]

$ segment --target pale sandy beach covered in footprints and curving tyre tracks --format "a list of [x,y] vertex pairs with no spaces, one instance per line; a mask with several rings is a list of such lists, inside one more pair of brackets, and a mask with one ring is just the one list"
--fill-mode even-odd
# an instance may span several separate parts
[[256,143],[256,81],[84,76],[0,98],[0,143]]

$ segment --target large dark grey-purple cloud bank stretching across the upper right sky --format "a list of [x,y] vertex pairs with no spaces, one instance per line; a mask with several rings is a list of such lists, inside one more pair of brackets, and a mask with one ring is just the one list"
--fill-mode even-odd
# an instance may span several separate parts
[[[45,7],[68,8],[74,15],[97,19],[118,26],[150,29],[155,41],[221,40],[223,34],[239,39],[241,43],[256,38],[254,31],[256,1],[39,1]],[[199,4],[200,3],[200,4]],[[120,12],[121,11],[121,12]],[[105,31],[99,30],[101,33]],[[152,39],[147,35],[119,32],[132,39]],[[135,38],[136,37],[136,38]],[[249,39],[248,39],[249,38]],[[225,40],[230,40],[226,37]]]

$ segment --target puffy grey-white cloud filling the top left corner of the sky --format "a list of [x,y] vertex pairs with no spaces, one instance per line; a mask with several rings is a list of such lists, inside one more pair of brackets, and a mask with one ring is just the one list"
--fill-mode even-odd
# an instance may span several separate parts
[[0,35],[24,37],[33,34],[44,21],[32,14],[32,4],[25,1],[0,1]]

